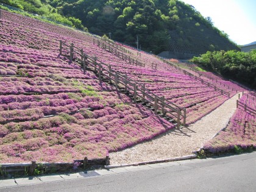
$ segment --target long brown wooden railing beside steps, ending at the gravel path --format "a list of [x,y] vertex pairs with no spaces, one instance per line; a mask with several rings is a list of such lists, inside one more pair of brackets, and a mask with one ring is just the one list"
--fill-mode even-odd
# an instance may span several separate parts
[[60,40],[60,55],[62,55],[63,49],[69,52],[70,60],[76,59],[80,63],[84,73],[87,69],[92,69],[98,75],[99,80],[109,80],[111,84],[115,85],[116,90],[132,94],[135,103],[142,102],[151,106],[155,115],[174,118],[177,121],[178,128],[180,127],[181,119],[183,119],[183,126],[186,125],[186,108],[180,108],[172,102],[167,104],[164,97],[159,97],[147,90],[144,84],[138,84],[127,75],[113,71],[110,65],[98,61],[96,57],[86,55],[83,49],[77,48],[74,44],[69,46]]

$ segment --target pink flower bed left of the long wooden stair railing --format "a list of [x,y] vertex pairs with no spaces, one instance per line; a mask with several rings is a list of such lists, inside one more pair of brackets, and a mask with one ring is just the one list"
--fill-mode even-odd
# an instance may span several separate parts
[[101,158],[174,127],[59,55],[60,39],[84,46],[90,40],[20,21],[0,20],[1,163]]

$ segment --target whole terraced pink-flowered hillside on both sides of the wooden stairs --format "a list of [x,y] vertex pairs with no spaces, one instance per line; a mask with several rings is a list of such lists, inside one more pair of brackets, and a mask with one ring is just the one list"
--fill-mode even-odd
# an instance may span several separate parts
[[[174,128],[172,121],[135,104],[117,86],[99,80],[91,69],[83,71],[76,55],[74,60],[60,55],[60,40],[73,43],[96,61],[127,75],[138,88],[145,87],[166,103],[186,108],[187,124],[228,99],[154,55],[126,47],[130,53],[124,58],[109,46],[102,48],[104,41],[99,38],[76,30],[4,11],[0,26],[2,163],[105,157],[109,151]],[[63,50],[64,55],[68,53]],[[132,65],[127,57],[143,65]]]

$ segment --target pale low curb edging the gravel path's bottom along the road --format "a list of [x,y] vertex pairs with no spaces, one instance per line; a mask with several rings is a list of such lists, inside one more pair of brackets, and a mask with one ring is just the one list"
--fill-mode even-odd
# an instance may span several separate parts
[[196,157],[197,157],[197,154],[193,154],[193,155],[187,155],[183,157],[166,158],[163,160],[154,160],[149,162],[138,162],[138,163],[129,163],[129,164],[121,164],[121,165],[105,165],[104,168],[112,169],[112,168],[122,168],[124,166],[138,166],[138,165],[148,165],[148,164],[154,164],[154,163],[174,162],[174,161],[187,160],[187,159],[196,158]]

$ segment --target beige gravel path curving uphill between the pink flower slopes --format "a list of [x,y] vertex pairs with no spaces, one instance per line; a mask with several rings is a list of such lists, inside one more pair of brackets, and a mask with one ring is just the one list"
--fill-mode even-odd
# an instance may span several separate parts
[[110,164],[121,165],[191,155],[192,151],[197,151],[226,127],[235,112],[236,99],[238,94],[188,127],[172,129],[132,148],[110,153]]

